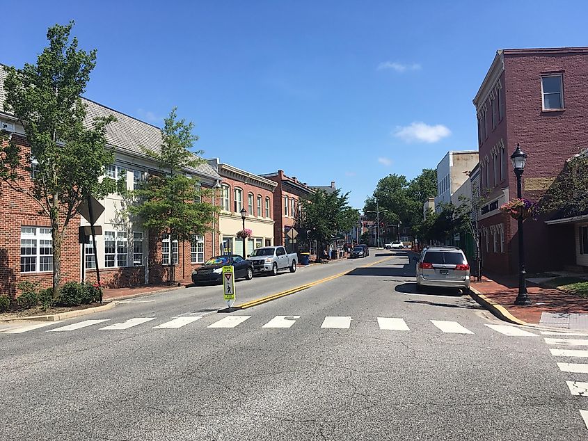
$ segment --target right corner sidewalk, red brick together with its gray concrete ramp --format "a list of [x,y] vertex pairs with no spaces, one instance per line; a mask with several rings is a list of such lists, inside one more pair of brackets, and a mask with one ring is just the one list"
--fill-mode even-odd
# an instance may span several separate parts
[[588,299],[558,289],[543,288],[527,280],[527,292],[532,305],[515,305],[518,278],[491,277],[484,276],[481,282],[472,283],[472,289],[503,307],[516,319],[555,328],[588,330]]

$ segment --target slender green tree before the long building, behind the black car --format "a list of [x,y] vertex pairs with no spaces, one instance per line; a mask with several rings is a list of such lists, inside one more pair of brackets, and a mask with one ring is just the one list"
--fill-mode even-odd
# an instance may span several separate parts
[[[138,218],[143,227],[157,234],[170,235],[173,241],[191,241],[195,234],[212,230],[218,208],[205,202],[209,192],[201,189],[198,178],[189,175],[204,160],[191,152],[198,136],[192,134],[193,123],[177,120],[174,108],[161,131],[161,151],[145,152],[157,162],[159,173],[150,174],[132,196],[129,214]],[[170,262],[168,281],[175,281],[175,266]]]

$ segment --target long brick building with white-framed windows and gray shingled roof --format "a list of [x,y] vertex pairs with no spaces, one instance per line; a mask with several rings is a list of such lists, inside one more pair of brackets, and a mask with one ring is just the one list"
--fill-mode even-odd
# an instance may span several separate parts
[[[0,68],[0,123],[13,141],[26,152],[28,145],[22,125],[13,115],[3,111],[5,76],[6,73]],[[115,116],[116,122],[111,123],[106,130],[107,146],[113,149],[115,161],[106,169],[106,174],[115,179],[124,177],[127,188],[133,189],[147,173],[157,168],[157,164],[143,152],[142,147],[159,150],[161,130],[88,99],[83,101],[87,106],[88,123],[98,116]],[[208,163],[186,170],[186,173],[198,177],[203,188],[218,185],[220,179]],[[29,176],[25,176],[24,185],[32,185]],[[38,214],[38,207],[35,207],[32,198],[23,197],[6,184],[1,184],[1,191],[0,289],[14,296],[17,294],[16,284],[22,280],[39,281],[43,286],[49,286],[53,269],[49,219]],[[100,275],[106,287],[161,282],[166,280],[170,264],[176,266],[176,279],[186,278],[193,267],[212,256],[212,232],[195,236],[191,242],[170,243],[168,235],[145,231],[136,220],[122,216],[122,209],[128,201],[120,195],[109,195],[101,202],[105,210],[96,225],[102,227],[103,234],[97,236],[96,242]],[[61,262],[63,282],[81,280],[83,254],[86,277],[95,280],[93,246],[88,243],[82,251],[78,243],[80,225],[87,225],[87,222],[78,216],[67,229]]]

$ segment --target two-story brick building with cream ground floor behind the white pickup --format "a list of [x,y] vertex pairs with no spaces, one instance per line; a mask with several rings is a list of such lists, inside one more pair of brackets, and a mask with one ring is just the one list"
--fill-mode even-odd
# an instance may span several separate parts
[[[221,163],[218,159],[209,159],[210,166],[221,176],[221,186],[218,189],[218,204],[221,213],[218,219],[218,241],[215,250],[221,254],[235,253],[250,255],[255,248],[273,245],[273,191],[276,182],[254,175],[230,164]],[[236,234],[243,228],[241,209],[247,211],[245,227],[253,232],[253,237],[246,241],[243,250],[243,240]]]

